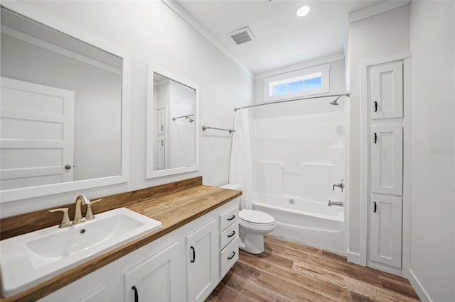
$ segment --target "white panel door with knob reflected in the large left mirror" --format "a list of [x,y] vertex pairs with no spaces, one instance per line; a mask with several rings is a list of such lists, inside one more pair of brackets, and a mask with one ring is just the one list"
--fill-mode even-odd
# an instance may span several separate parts
[[1,77],[2,190],[73,181],[74,96]]

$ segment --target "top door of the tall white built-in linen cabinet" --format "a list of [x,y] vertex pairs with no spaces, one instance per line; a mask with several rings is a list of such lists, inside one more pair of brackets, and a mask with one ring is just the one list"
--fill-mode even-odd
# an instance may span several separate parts
[[389,62],[371,67],[371,118],[403,116],[403,63]]

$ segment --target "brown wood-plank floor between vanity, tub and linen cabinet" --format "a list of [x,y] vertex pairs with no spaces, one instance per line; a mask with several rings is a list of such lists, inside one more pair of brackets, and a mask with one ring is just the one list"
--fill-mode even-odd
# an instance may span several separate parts
[[265,251],[240,251],[207,301],[419,301],[399,276],[314,247],[264,237]]

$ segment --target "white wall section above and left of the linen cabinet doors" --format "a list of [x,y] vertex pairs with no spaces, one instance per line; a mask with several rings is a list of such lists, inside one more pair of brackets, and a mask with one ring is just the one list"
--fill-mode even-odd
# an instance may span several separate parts
[[[367,201],[360,197],[360,125],[364,112],[360,111],[360,63],[379,58],[402,54],[410,51],[410,13],[409,6],[380,13],[350,24],[349,27],[349,82],[350,82],[350,124],[349,138],[349,246],[348,259],[360,257],[361,233],[365,231],[360,220],[365,213],[360,212],[360,203]],[[365,251],[363,251],[365,252]],[[363,255],[365,257],[365,255]]]

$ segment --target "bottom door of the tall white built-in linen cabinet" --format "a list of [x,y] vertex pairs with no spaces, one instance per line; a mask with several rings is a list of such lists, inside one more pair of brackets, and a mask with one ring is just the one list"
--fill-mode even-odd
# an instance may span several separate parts
[[371,194],[370,259],[401,268],[402,198]]

